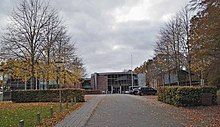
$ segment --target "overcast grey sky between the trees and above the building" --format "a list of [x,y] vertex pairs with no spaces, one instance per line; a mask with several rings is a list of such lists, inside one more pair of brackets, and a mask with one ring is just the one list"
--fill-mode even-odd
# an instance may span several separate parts
[[[50,0],[76,42],[87,73],[123,71],[154,55],[159,28],[189,0]],[[0,0],[0,28],[17,0]],[[0,30],[0,34],[2,30]]]

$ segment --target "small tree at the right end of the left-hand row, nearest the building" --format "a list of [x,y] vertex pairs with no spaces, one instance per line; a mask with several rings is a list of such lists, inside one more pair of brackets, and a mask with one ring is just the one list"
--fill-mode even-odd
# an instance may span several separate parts
[[[58,36],[57,41],[55,42],[54,47],[54,62],[62,62],[63,65],[63,85],[73,86],[74,82],[78,82],[83,74],[84,74],[84,67],[81,59],[76,54],[75,44],[71,42],[70,36],[67,34],[65,28],[63,28],[62,32]],[[77,76],[78,77],[77,77]],[[67,78],[69,77],[69,79]],[[69,80],[69,81],[68,81]]]

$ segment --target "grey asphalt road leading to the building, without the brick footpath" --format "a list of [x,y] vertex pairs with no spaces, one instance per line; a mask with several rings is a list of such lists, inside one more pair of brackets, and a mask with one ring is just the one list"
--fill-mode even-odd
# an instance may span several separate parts
[[101,100],[85,126],[182,127],[181,122],[145,97],[115,94]]

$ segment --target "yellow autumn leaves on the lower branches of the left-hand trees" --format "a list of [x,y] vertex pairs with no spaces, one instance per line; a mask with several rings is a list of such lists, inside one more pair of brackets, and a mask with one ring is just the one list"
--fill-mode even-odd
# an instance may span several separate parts
[[[31,64],[29,61],[8,60],[2,62],[1,66],[4,75],[9,75],[13,79],[27,82],[31,78]],[[46,83],[47,81],[56,81],[59,78],[59,83],[63,87],[72,87],[74,84],[79,84],[83,75],[82,68],[78,66],[67,69],[64,64],[58,68],[54,62],[49,65],[38,62],[35,64],[34,71],[36,79]]]

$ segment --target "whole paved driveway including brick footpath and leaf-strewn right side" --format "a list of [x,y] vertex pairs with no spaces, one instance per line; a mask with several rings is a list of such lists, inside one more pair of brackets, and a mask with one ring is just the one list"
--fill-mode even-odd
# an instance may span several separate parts
[[220,105],[175,107],[156,96],[93,95],[56,127],[220,127]]

